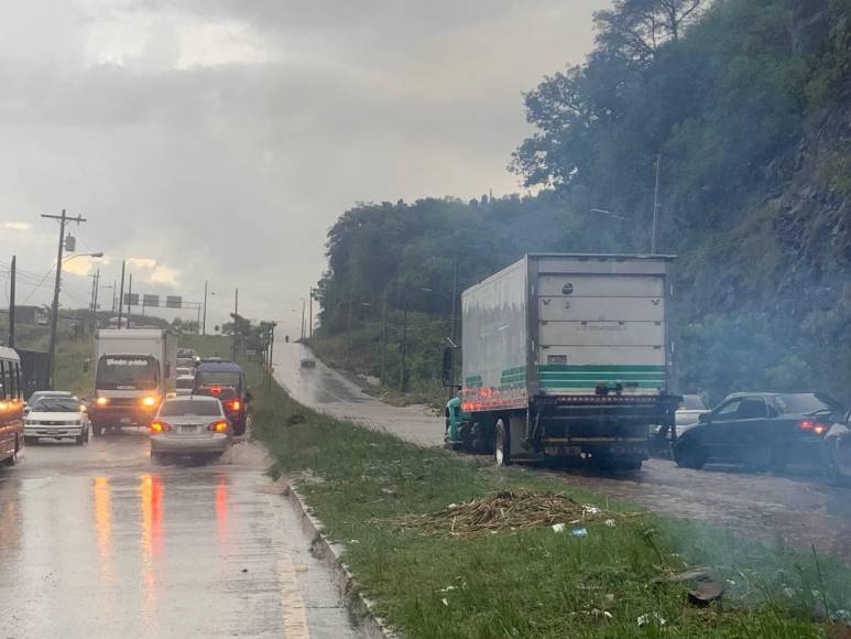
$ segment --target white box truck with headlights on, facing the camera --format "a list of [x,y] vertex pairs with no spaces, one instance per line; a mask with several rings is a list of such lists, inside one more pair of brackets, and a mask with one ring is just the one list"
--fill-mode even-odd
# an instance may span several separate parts
[[89,419],[96,434],[148,426],[175,391],[176,338],[159,328],[95,333],[95,400]]

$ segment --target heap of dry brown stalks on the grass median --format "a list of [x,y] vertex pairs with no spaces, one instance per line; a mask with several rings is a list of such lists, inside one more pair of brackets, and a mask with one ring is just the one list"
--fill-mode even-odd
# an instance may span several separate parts
[[[556,492],[525,490],[503,491],[463,503],[450,503],[432,515],[407,515],[393,521],[406,529],[424,533],[474,535],[512,530],[552,527],[553,532],[565,532],[566,524],[615,521],[634,517],[607,512],[596,506],[581,505]],[[611,526],[611,523],[607,523]],[[587,537],[586,528],[574,528],[570,534]]]

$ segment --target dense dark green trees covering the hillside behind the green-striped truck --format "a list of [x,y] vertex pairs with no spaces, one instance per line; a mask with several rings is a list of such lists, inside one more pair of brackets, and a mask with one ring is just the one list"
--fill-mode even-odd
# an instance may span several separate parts
[[646,252],[661,159],[680,389],[848,398],[850,23],[851,0],[615,0],[585,64],[525,96],[535,132],[511,167],[538,194],[347,212],[320,340],[351,334],[342,347],[377,375],[399,366],[408,308],[411,381],[435,377],[454,290],[524,252]]

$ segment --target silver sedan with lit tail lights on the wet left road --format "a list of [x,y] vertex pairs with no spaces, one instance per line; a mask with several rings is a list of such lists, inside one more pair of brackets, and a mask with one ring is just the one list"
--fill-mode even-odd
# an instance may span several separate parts
[[156,411],[150,430],[154,462],[171,456],[218,457],[233,441],[221,402],[205,396],[165,400]]

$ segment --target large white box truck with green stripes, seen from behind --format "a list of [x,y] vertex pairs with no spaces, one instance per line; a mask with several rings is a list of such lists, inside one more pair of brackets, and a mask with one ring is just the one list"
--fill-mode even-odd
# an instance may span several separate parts
[[499,465],[575,457],[640,468],[652,432],[676,436],[673,259],[527,254],[466,290],[447,444],[492,452]]

